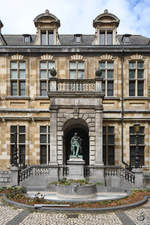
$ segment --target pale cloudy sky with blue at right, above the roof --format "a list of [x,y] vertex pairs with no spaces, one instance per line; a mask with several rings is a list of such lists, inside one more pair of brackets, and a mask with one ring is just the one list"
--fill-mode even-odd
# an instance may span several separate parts
[[118,33],[150,37],[150,0],[0,0],[3,34],[34,34],[33,19],[45,9],[61,21],[60,34],[93,34],[93,19],[104,9],[120,19]]

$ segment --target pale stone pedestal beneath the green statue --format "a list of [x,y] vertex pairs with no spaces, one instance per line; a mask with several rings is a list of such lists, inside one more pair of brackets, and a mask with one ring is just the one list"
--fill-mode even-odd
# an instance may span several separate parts
[[67,161],[68,175],[67,179],[80,180],[84,179],[85,161],[81,158],[70,156]]

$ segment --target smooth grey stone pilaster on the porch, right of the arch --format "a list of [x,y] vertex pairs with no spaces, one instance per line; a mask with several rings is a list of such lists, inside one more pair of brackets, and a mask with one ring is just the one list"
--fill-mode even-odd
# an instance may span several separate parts
[[102,126],[102,111],[101,109],[96,110],[95,114],[95,164],[103,166],[103,126]]

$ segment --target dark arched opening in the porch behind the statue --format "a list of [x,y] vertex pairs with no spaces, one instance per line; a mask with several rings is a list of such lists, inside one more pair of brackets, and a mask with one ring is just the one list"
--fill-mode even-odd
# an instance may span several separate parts
[[67,163],[71,154],[71,138],[74,133],[77,132],[78,136],[82,138],[82,152],[79,154],[83,155],[85,164],[89,165],[89,130],[86,122],[83,119],[70,119],[64,125],[64,136],[63,136],[63,161]]

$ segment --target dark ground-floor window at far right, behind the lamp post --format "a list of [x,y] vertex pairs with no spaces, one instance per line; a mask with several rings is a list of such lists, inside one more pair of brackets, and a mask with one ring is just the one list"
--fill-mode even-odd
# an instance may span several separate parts
[[136,140],[134,127],[130,127],[130,165],[135,166],[136,142],[139,148],[140,165],[144,165],[144,127],[140,127]]

